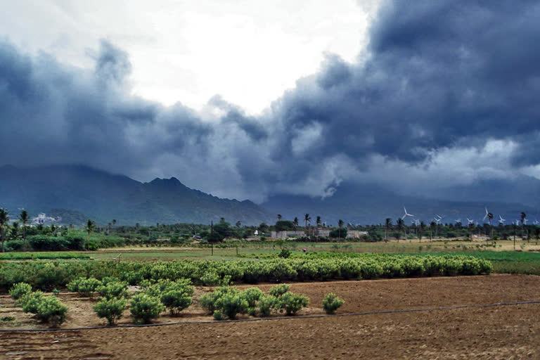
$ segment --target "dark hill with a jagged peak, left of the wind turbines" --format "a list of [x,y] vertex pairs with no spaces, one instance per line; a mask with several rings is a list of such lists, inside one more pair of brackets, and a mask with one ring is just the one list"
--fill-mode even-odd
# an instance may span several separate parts
[[14,214],[46,212],[75,222],[90,217],[99,224],[207,224],[226,221],[260,224],[274,218],[249,200],[221,199],[181,184],[176,178],[141,183],[79,165],[21,169],[0,167],[0,207]]

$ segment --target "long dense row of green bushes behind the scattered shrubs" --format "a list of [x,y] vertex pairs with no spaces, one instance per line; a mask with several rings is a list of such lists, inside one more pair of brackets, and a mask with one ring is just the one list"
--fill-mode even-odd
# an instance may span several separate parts
[[325,281],[330,279],[397,278],[489,274],[491,262],[462,255],[385,256],[335,259],[270,259],[250,261],[179,260],[173,262],[5,262],[0,264],[0,290],[25,282],[34,288],[62,288],[77,277],[102,279],[113,276],[136,285],[143,280],[192,283],[231,281],[244,283]]

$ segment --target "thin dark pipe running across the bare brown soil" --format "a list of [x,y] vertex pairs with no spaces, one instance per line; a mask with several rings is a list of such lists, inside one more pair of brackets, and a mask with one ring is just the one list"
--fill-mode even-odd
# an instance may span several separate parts
[[20,332],[34,333],[34,332],[46,332],[46,331],[77,331],[77,330],[98,330],[98,329],[113,329],[113,328],[150,328],[154,326],[172,326],[172,325],[182,325],[182,324],[244,323],[244,322],[250,322],[250,321],[318,319],[318,318],[340,317],[340,316],[399,314],[399,313],[406,313],[406,312],[454,310],[454,309],[466,309],[466,308],[474,308],[474,307],[500,307],[500,306],[515,306],[515,305],[527,305],[527,304],[540,304],[540,300],[530,300],[530,301],[521,301],[521,302],[495,302],[494,304],[454,305],[451,307],[425,307],[423,309],[364,311],[364,312],[352,312],[348,314],[334,314],[334,315],[279,316],[279,317],[274,317],[274,318],[237,319],[237,320],[224,320],[224,321],[214,321],[214,320],[177,321],[174,323],[150,323],[150,324],[144,324],[144,325],[133,324],[133,325],[115,325],[115,326],[90,326],[87,328],[0,329],[0,333],[20,333]]

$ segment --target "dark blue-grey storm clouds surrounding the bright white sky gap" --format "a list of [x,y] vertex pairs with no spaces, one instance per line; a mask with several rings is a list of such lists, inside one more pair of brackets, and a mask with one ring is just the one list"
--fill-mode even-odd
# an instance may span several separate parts
[[539,18],[536,1],[385,2],[355,63],[326,54],[257,117],[220,96],[206,113],[131,96],[129,57],[107,41],[94,70],[0,41],[0,163],[178,176],[255,200],[385,166],[417,180],[442,159],[459,175],[506,149],[483,173],[513,172],[540,158]]

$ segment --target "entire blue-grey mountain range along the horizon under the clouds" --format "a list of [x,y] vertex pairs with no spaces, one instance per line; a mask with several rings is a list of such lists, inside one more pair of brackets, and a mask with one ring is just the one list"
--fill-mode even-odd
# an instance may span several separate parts
[[339,219],[352,224],[379,224],[387,217],[395,222],[403,216],[403,207],[426,222],[440,214],[443,222],[461,219],[463,224],[467,217],[482,222],[487,207],[495,215],[494,221],[501,215],[508,224],[522,211],[531,220],[539,217],[539,195],[538,179],[516,176],[420,195],[399,194],[377,184],[345,183],[328,198],[278,194],[257,205],[250,200],[217,198],[188,188],[174,177],[143,183],[82,165],[0,167],[0,207],[12,214],[18,214],[20,208],[31,215],[46,212],[63,217],[66,224],[77,225],[88,218],[99,224],[116,219],[120,225],[143,225],[208,224],[221,217],[233,224],[274,224],[276,214],[283,219],[297,217],[300,224],[304,223],[304,214],[311,215],[312,224],[316,216],[327,224],[337,224]]

